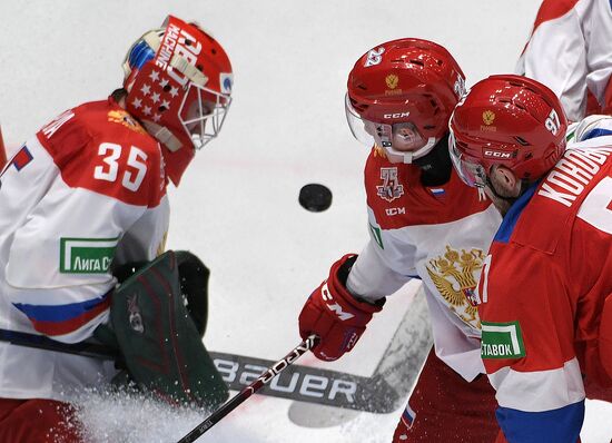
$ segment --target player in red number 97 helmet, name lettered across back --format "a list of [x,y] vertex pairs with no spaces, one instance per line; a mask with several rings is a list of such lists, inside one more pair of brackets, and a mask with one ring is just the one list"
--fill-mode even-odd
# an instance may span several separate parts
[[509,442],[575,443],[583,380],[612,385],[612,119],[567,128],[544,85],[492,76],[451,131],[456,170],[504,217],[476,292],[497,420]]

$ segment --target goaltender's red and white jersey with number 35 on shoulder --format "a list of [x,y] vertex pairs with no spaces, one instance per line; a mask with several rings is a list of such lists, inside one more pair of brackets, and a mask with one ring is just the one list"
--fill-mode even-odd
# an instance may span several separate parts
[[[66,343],[108,321],[111,263],[152,259],[169,207],[157,140],[112,99],[70,109],[0,176],[0,327]],[[115,371],[0,342],[0,397],[56,398]]]

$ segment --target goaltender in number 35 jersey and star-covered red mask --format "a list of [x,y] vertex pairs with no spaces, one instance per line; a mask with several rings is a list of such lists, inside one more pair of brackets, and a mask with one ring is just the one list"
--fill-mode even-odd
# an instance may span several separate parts
[[[221,129],[231,66],[197,24],[169,17],[134,43],[124,70],[121,89],[46,125],[1,173],[2,328],[70,344],[107,324],[111,262],[164,252],[167,185]],[[0,342],[0,441],[80,441],[67,395],[115,374],[95,358]]]

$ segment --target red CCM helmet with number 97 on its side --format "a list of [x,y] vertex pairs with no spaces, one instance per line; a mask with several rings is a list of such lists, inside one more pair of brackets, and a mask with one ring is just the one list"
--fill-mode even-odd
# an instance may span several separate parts
[[535,180],[565,150],[567,120],[559,98],[526,77],[491,76],[470,90],[451,117],[451,157],[470,186],[484,187],[493,165]]

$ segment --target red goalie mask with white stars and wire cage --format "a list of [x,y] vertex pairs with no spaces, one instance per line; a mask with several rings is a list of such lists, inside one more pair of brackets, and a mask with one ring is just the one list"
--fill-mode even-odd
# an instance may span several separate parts
[[221,129],[231,102],[229,58],[196,23],[169,16],[132,45],[124,71],[126,108],[159,140],[178,185],[195,148]]

